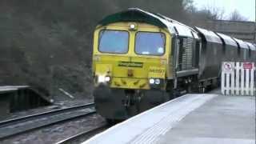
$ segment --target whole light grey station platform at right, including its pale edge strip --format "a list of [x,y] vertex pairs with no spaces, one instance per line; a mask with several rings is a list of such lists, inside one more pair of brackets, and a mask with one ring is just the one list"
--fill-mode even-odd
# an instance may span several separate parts
[[254,144],[255,97],[186,94],[83,144]]

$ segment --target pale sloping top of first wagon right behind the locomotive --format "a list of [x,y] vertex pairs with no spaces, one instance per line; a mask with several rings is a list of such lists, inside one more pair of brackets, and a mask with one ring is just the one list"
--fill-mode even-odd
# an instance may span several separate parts
[[202,29],[200,27],[195,27],[195,29],[198,30],[199,33],[204,35],[207,42],[222,43],[221,38],[219,38],[218,35],[215,34],[213,31]]

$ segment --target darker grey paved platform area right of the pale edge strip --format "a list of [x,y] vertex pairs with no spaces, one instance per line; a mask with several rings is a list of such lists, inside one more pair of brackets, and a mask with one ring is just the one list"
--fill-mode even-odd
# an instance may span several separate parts
[[255,97],[219,96],[194,110],[158,143],[255,143]]

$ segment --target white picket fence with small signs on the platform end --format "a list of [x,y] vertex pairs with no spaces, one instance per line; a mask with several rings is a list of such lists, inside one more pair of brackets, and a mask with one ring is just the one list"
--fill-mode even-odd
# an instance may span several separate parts
[[254,95],[254,62],[222,62],[222,94]]

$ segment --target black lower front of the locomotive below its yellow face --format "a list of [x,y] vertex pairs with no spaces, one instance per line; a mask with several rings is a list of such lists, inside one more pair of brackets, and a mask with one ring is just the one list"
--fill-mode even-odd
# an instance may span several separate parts
[[97,86],[95,108],[107,119],[123,120],[170,100],[165,90],[128,90]]

